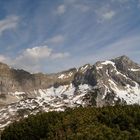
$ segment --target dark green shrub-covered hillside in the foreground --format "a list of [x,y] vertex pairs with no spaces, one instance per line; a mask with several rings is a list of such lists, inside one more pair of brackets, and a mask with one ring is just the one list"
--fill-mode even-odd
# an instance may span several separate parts
[[40,113],[8,126],[2,140],[140,140],[140,106]]

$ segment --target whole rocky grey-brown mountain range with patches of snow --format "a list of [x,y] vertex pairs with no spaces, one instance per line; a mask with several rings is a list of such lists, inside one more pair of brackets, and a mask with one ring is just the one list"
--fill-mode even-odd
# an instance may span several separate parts
[[0,129],[29,114],[78,106],[140,104],[140,65],[121,56],[55,74],[0,63]]

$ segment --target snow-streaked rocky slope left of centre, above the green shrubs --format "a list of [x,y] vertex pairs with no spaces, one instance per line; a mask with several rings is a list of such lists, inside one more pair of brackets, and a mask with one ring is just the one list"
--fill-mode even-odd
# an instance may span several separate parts
[[10,93],[21,100],[0,110],[0,129],[3,129],[14,120],[19,120],[40,111],[64,111],[67,107],[85,106],[86,102],[83,99],[90,88],[89,85],[83,84],[79,85],[76,91],[76,88],[70,84],[58,88],[38,89],[34,90],[35,98],[27,99],[24,99],[26,93]]

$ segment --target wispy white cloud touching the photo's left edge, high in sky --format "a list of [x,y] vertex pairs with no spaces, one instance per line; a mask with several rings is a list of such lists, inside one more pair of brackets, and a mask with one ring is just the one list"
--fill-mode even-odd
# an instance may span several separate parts
[[7,16],[5,19],[0,20],[0,35],[8,30],[8,29],[14,29],[17,27],[19,21],[18,16]]

